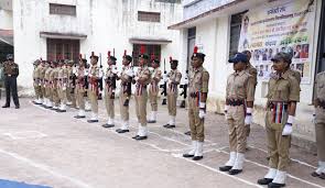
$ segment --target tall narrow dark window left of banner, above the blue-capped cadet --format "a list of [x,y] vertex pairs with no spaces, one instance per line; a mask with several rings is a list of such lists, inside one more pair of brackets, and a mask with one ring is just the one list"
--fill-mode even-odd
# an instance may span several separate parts
[[230,45],[229,57],[234,56],[238,52],[238,44],[240,37],[241,19],[247,11],[231,15],[230,20]]

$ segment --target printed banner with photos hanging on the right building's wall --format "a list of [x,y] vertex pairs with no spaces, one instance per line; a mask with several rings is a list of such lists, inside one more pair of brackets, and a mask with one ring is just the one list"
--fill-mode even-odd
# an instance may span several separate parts
[[278,52],[286,52],[293,57],[291,68],[302,75],[302,84],[310,84],[315,3],[314,0],[272,1],[250,9],[242,16],[238,51],[251,52],[251,64],[258,69],[259,79],[269,80],[273,71],[270,59]]

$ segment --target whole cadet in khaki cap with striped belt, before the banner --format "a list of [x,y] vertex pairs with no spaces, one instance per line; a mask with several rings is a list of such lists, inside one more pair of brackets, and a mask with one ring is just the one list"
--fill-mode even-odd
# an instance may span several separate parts
[[268,85],[266,115],[270,168],[258,184],[275,188],[285,186],[292,124],[296,102],[300,101],[300,86],[296,78],[288,71],[291,64],[290,54],[278,53],[271,60],[275,74],[271,75]]

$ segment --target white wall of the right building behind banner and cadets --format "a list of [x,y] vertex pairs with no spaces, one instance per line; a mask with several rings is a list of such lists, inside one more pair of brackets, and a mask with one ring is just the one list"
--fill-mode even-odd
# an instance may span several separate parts
[[[321,18],[321,0],[317,0],[315,33],[314,33],[314,52],[313,56],[316,59],[318,23]],[[212,19],[202,22],[196,26],[196,45],[203,46],[203,52],[207,55],[204,67],[210,74],[209,93],[208,93],[208,110],[218,113],[224,112],[226,98],[227,77],[231,74],[232,65],[228,64],[229,58],[229,42],[230,42],[230,15],[225,15],[217,19]],[[183,29],[181,34],[187,29]],[[181,43],[186,43],[184,34],[181,36]],[[183,46],[184,47],[184,46]],[[186,46],[187,47],[187,46]],[[183,49],[184,51],[184,49]],[[311,64],[312,76],[315,75],[315,60]],[[253,121],[264,125],[264,109],[267,99],[267,81],[259,81],[256,90],[256,109]],[[301,85],[301,101],[297,104],[296,121],[294,123],[294,135],[305,140],[314,141],[315,132],[312,123],[313,106],[312,95],[314,90],[314,81]]]

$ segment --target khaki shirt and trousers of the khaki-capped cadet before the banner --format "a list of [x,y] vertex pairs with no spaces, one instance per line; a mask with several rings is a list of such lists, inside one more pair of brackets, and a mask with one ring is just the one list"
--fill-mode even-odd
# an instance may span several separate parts
[[270,168],[285,172],[289,164],[291,136],[282,136],[282,130],[288,120],[288,103],[300,101],[300,86],[290,71],[281,77],[273,76],[269,81],[268,110],[266,129],[270,154]]

